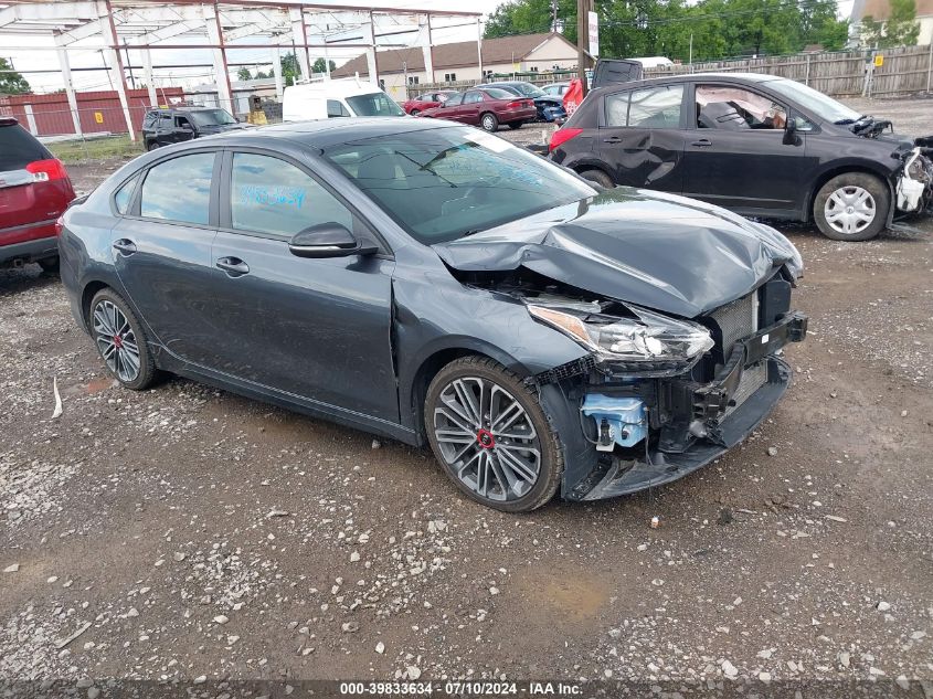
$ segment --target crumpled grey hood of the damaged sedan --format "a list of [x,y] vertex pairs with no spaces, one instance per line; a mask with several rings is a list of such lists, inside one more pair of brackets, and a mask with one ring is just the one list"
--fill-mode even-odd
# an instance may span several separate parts
[[683,318],[740,298],[801,256],[781,233],[718,206],[616,188],[433,246],[463,272],[526,267],[592,294]]

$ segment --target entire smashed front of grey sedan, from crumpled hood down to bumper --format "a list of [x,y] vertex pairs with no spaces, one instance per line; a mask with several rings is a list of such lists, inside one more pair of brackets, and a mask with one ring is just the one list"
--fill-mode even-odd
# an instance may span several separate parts
[[592,500],[674,480],[741,442],[788,388],[783,348],[807,319],[791,308],[799,255],[767,226],[632,190],[573,208],[434,248],[462,283],[545,325],[554,311],[681,348],[708,335],[682,361],[619,359],[581,335],[587,352],[527,379],[561,437],[563,497]]

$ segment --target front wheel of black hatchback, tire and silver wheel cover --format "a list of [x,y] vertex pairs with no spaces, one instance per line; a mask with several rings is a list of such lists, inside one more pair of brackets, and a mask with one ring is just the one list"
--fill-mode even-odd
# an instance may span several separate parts
[[868,241],[888,223],[891,193],[867,172],[844,172],[826,182],[813,202],[819,232],[834,241]]

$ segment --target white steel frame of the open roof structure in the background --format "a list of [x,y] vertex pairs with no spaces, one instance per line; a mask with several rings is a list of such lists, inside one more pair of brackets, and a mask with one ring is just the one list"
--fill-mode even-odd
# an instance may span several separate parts
[[[57,52],[76,134],[82,131],[68,53],[102,51],[107,67],[117,78],[115,87],[132,139],[136,134],[126,97],[127,84],[120,53],[124,50],[127,50],[127,55],[130,49],[141,53],[144,80],[153,105],[158,100],[152,80],[151,51],[210,50],[221,104],[233,112],[227,61],[231,51],[267,50],[279,96],[283,89],[279,61],[282,50],[295,52],[301,78],[310,80],[311,50],[324,50],[327,59],[329,49],[362,49],[367,53],[368,73],[378,81],[377,46],[421,46],[425,64],[433,63],[432,18],[460,18],[468,23],[476,23],[479,45],[478,12],[289,0],[0,2],[0,33],[54,39],[54,47],[29,45],[29,40],[24,39],[26,45],[6,49]],[[409,39],[404,40],[406,35]],[[325,61],[325,64],[328,62]]]

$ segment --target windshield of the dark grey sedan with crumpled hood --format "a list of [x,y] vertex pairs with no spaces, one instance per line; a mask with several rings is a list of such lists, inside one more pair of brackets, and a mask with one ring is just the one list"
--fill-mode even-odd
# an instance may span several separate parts
[[596,194],[561,168],[474,128],[368,138],[324,156],[426,245]]

